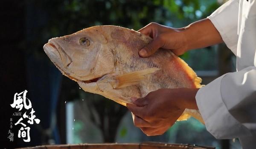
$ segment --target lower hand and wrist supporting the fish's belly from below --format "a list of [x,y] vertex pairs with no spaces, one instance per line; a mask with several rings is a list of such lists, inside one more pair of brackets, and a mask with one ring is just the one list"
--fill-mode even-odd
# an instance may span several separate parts
[[195,95],[198,89],[159,89],[144,98],[132,98],[127,104],[134,125],[146,135],[162,135],[180,117],[183,111],[198,109]]

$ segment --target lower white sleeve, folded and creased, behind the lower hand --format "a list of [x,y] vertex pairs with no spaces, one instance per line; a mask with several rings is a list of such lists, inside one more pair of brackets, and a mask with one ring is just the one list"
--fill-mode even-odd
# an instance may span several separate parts
[[198,90],[198,109],[218,139],[256,135],[256,67],[226,73]]

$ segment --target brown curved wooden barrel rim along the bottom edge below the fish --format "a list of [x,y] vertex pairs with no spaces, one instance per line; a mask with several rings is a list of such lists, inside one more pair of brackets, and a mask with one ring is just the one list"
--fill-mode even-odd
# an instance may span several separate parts
[[215,149],[209,146],[196,146],[190,144],[173,144],[173,143],[83,143],[83,144],[63,144],[25,147],[18,149]]

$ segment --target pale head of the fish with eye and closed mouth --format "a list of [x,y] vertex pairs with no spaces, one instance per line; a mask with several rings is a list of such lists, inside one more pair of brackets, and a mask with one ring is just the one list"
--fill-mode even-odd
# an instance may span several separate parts
[[107,38],[97,27],[49,39],[44,51],[58,69],[75,81],[92,81],[114,70]]

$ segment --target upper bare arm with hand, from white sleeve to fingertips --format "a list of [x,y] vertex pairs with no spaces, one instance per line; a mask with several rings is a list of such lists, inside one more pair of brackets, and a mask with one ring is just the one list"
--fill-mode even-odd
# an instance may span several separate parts
[[142,48],[140,56],[148,57],[159,48],[172,50],[176,55],[195,48],[204,48],[223,42],[221,35],[209,19],[199,20],[184,28],[171,28],[150,23],[139,30],[154,40]]

